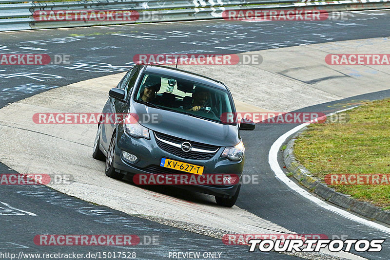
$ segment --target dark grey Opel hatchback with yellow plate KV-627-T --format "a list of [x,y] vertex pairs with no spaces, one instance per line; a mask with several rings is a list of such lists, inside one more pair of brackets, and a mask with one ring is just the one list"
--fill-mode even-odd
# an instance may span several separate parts
[[214,195],[219,205],[235,204],[244,167],[240,130],[254,130],[254,123],[235,120],[234,101],[225,84],[170,67],[136,65],[110,90],[102,116],[107,114],[126,115],[100,118],[98,124],[93,157],[106,161],[107,176],[212,179],[234,174],[237,182],[200,184],[185,179],[180,184],[187,185],[173,186]]

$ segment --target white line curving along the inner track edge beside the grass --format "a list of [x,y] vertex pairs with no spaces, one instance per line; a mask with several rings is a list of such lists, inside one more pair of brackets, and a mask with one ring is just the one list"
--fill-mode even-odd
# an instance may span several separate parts
[[[353,107],[353,108],[355,108],[355,107]],[[333,113],[327,114],[326,116],[331,116],[332,114],[335,114],[335,113],[338,113],[338,112],[347,111],[347,110],[350,110],[350,109],[353,109],[353,108],[348,108],[348,109],[340,110],[340,111],[337,111],[337,112],[333,112]],[[301,124],[301,125],[299,125],[297,127],[294,127],[292,130],[290,130],[290,131],[284,133],[282,136],[280,136],[273,143],[273,145],[271,146],[270,152],[268,154],[268,162],[269,162],[269,164],[271,166],[271,169],[275,173],[276,177],[278,179],[280,179],[282,182],[284,182],[287,186],[289,186],[292,190],[297,192],[299,195],[305,197],[308,200],[311,200],[313,203],[319,205],[320,207],[328,209],[331,212],[337,213],[340,216],[343,216],[343,217],[345,217],[345,218],[347,218],[349,220],[356,221],[358,223],[370,226],[372,228],[376,228],[376,229],[378,229],[378,230],[380,230],[382,232],[390,234],[390,228],[388,228],[388,227],[386,227],[384,225],[381,225],[379,223],[375,223],[375,222],[363,219],[361,217],[358,217],[356,215],[353,215],[353,214],[345,211],[344,209],[332,206],[331,204],[328,204],[328,203],[318,199],[317,197],[314,197],[310,192],[307,192],[302,187],[298,186],[296,183],[294,183],[292,180],[290,180],[286,176],[286,174],[284,174],[283,170],[280,168],[279,163],[277,161],[277,153],[279,151],[279,148],[282,146],[282,144],[286,141],[286,139],[290,135],[292,135],[293,133],[297,132],[298,130],[301,130],[302,128],[304,128],[307,125],[308,125],[308,123],[304,123],[304,124]]]

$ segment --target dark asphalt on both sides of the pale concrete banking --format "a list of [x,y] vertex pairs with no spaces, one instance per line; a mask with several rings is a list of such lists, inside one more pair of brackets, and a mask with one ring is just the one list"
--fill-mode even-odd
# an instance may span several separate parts
[[[0,54],[49,54],[52,58],[55,55],[65,55],[70,63],[45,66],[1,65],[0,107],[51,88],[124,72],[132,66],[132,58],[136,54],[234,54],[330,41],[388,37],[390,28],[383,25],[390,23],[390,12],[381,11],[382,15],[372,13],[354,13],[348,20],[321,22],[218,20],[1,33]],[[390,91],[370,93],[300,111],[331,112],[341,109],[337,106],[340,102],[389,96]],[[264,185],[242,186],[236,205],[298,234],[348,236],[349,239],[388,238],[388,234],[322,209],[274,177],[268,164],[269,149],[279,136],[295,126],[259,124],[255,131],[242,133],[248,151],[244,173],[260,174],[260,182]],[[283,164],[281,159],[280,162]],[[2,164],[0,172],[15,173]],[[248,254],[244,246],[226,246],[218,239],[83,202],[45,186],[0,186],[0,194],[0,201],[3,203],[0,205],[1,252],[126,251],[136,252],[138,259],[161,259],[172,251],[199,251],[221,252],[222,259],[295,258],[274,252],[263,253],[261,256],[259,252],[256,255]],[[46,249],[33,243],[37,234],[121,232],[134,233],[141,241],[143,238],[149,241],[148,238],[155,236],[158,238],[158,245],[144,243],[130,248],[57,246]],[[358,255],[369,259],[387,259],[390,248],[388,242],[384,245],[380,253]]]

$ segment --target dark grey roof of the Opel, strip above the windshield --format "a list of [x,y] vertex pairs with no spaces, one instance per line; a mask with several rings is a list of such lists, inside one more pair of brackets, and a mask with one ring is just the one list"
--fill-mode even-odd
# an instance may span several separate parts
[[200,84],[213,86],[218,89],[226,90],[226,86],[218,80],[212,79],[210,77],[202,76],[196,73],[183,71],[171,67],[160,66],[160,65],[146,65],[146,72],[163,74],[171,77],[182,78],[190,81],[195,81]]

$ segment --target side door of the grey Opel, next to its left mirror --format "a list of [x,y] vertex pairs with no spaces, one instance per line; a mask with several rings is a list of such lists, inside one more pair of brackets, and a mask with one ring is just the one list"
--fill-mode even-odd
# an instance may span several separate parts
[[[137,67],[131,68],[126,75],[121,79],[117,88],[125,89],[128,86],[128,83],[131,79],[131,76],[138,70]],[[108,150],[108,146],[111,142],[111,137],[116,128],[115,123],[115,115],[117,113],[122,113],[124,111],[124,107],[126,102],[121,102],[119,100],[114,99],[113,97],[109,97],[106,105],[104,106],[103,113],[105,114],[106,120],[104,120],[102,127],[102,138],[100,140],[100,144],[103,146],[104,150]]]

